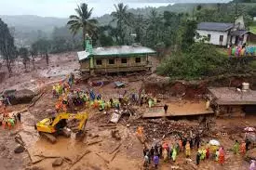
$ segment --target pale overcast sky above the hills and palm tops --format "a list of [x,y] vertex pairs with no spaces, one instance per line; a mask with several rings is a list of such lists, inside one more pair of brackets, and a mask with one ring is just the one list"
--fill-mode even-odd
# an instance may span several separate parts
[[67,18],[81,2],[93,7],[93,16],[111,13],[114,4],[123,2],[129,8],[160,7],[173,3],[226,3],[230,0],[0,0],[0,15],[38,15]]

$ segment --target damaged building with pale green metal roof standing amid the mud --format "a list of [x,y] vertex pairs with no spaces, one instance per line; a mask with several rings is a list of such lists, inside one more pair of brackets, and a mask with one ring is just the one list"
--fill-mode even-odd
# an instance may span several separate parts
[[77,56],[81,72],[97,74],[150,71],[150,57],[155,53],[155,50],[140,45],[92,48],[87,40],[86,50],[77,52]]

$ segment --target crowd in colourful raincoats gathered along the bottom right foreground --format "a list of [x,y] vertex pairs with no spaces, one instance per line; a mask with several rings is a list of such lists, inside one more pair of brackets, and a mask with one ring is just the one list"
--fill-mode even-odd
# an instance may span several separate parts
[[[176,162],[177,156],[183,154],[186,158],[191,158],[191,151],[197,150],[195,154],[195,163],[199,165],[201,161],[212,160],[221,165],[225,161],[225,150],[222,146],[212,145],[210,143],[201,145],[201,139],[198,135],[194,138],[181,137],[181,139],[174,143],[168,143],[167,141],[155,144],[152,148],[144,147],[143,149],[143,166],[148,169],[153,163],[155,169],[157,169],[160,160],[163,163]],[[239,143],[237,140],[233,147],[234,154],[240,154],[244,156],[249,150],[249,141],[245,140]],[[254,165],[254,166],[253,166]],[[255,162],[251,162],[251,167],[255,167]],[[255,170],[255,169],[250,169]]]

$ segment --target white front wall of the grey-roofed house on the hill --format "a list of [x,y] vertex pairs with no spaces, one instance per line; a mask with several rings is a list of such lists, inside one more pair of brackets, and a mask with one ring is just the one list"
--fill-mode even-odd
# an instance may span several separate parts
[[[209,44],[218,45],[218,46],[227,46],[228,32],[215,32],[215,31],[206,31],[206,30],[196,30],[196,33],[199,33],[200,36],[208,36],[210,34]],[[223,35],[222,44],[220,42],[220,35]]]

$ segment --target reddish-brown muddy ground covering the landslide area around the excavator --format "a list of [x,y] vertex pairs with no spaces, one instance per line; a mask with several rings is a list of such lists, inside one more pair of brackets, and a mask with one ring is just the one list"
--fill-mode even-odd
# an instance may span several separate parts
[[[54,110],[56,99],[52,98],[51,85],[63,80],[66,74],[69,72],[76,72],[79,69],[79,64],[76,59],[75,53],[65,53],[61,55],[50,56],[50,64],[47,67],[44,59],[37,59],[35,69],[31,65],[29,72],[25,72],[20,62],[16,63],[16,67],[10,78],[4,67],[1,68],[0,76],[5,77],[1,79],[0,91],[5,89],[23,89],[28,88],[35,92],[41,93],[44,91],[42,97],[30,107],[28,111],[22,112],[22,124],[16,125],[15,129],[7,130],[0,129],[0,169],[2,170],[19,170],[19,169],[76,169],[76,170],[89,170],[89,169],[111,169],[111,170],[139,170],[142,169],[142,148],[141,141],[136,137],[136,128],[141,123],[144,123],[145,128],[151,127],[150,124],[146,124],[150,120],[143,120],[140,118],[144,111],[148,111],[146,106],[134,106],[135,117],[130,120],[128,117],[123,117],[119,124],[112,124],[108,126],[108,120],[110,114],[104,114],[100,111],[93,109],[86,109],[89,113],[89,120],[87,124],[87,136],[77,141],[72,135],[71,138],[58,137],[56,144],[50,144],[45,138],[39,137],[34,130],[34,124],[37,121],[46,118],[52,110]],[[77,75],[77,74],[76,74]],[[155,75],[151,75],[155,77]],[[78,77],[78,75],[77,75]],[[172,100],[177,102],[177,105],[181,105],[181,98],[183,99],[183,93],[189,97],[191,102],[197,102],[198,98],[205,93],[204,89],[206,85],[196,86],[195,88],[189,88],[190,85],[184,83],[175,84],[172,86],[157,85],[157,81],[152,81],[154,84],[149,84],[148,75],[133,74],[130,76],[115,76],[115,77],[95,77],[90,79],[90,82],[106,81],[108,84],[102,86],[92,86],[97,92],[101,93],[104,99],[118,98],[119,94],[128,92],[138,92],[142,87],[145,87],[147,93],[161,96],[161,102],[159,105]],[[152,79],[156,80],[156,79]],[[114,82],[122,81],[126,83],[125,88],[115,88]],[[88,89],[91,88],[90,82],[80,82],[75,85],[77,88]],[[200,88],[202,87],[202,88]],[[189,89],[189,90],[187,90]],[[175,93],[176,94],[175,94]],[[163,94],[168,94],[167,97],[163,97]],[[196,94],[196,95],[195,95]],[[183,95],[183,96],[182,96]],[[189,103],[187,103],[189,104]],[[28,105],[16,105],[9,106],[8,111],[20,111],[27,108]],[[185,111],[184,108],[182,110]],[[198,124],[199,118],[196,116],[182,117],[182,120],[177,120],[178,124]],[[199,166],[195,165],[195,150],[192,152],[192,162],[186,163],[183,153],[181,153],[176,163],[160,163],[159,169],[202,169],[202,170],[219,170],[219,169],[248,169],[249,163],[244,161],[241,155],[234,156],[232,151],[232,145],[235,139],[242,140],[242,129],[246,126],[255,126],[256,116],[246,115],[246,117],[239,118],[213,118],[214,125],[209,133],[205,134],[202,138],[203,143],[207,143],[209,139],[216,138],[221,141],[222,146],[226,150],[226,162],[221,166],[214,161],[204,161]],[[155,121],[155,120],[153,120]],[[161,124],[169,121],[165,119],[156,119]],[[151,122],[151,124],[153,124]],[[154,124],[153,126],[154,127]],[[166,127],[162,127],[165,129]],[[112,137],[111,131],[118,130],[121,136],[120,140]],[[152,129],[154,131],[154,129]],[[151,132],[148,130],[149,133]],[[163,130],[164,132],[164,130]],[[225,136],[220,135],[226,134]],[[26,145],[26,151],[15,154],[13,150],[16,148],[17,143],[14,137],[20,134]],[[149,145],[154,143],[159,137],[149,136]],[[175,140],[175,136],[168,136],[166,140]],[[96,142],[96,143],[94,143]],[[94,143],[94,144],[93,144]],[[120,145],[121,144],[121,145]],[[114,150],[117,146],[120,147]],[[89,150],[89,152],[88,152]],[[113,151],[114,150],[114,151]],[[81,160],[81,155],[87,153]],[[37,155],[37,156],[36,156]],[[38,156],[40,155],[40,156]],[[45,156],[45,157],[42,157]],[[54,157],[54,158],[46,158]],[[55,157],[63,158],[65,161],[61,166],[53,167],[52,163],[55,161]],[[70,160],[70,161],[68,161]],[[76,163],[77,161],[77,163]]]

